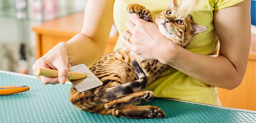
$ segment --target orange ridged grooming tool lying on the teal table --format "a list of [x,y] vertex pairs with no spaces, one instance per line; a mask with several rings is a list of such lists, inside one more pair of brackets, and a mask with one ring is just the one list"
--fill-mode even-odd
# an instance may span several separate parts
[[29,90],[29,86],[0,86],[0,95],[20,93]]

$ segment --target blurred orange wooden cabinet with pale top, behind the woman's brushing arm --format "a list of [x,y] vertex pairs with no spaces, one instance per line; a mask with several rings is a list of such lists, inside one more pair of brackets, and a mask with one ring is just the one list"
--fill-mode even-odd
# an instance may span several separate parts
[[[79,12],[34,26],[33,31],[37,37],[36,59],[42,57],[59,42],[67,42],[80,33],[83,20],[84,12]],[[109,38],[105,53],[114,49],[117,38],[117,36]]]

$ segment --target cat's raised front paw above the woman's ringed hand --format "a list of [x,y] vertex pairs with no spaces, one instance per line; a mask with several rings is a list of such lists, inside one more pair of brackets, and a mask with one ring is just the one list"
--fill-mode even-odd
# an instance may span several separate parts
[[136,13],[140,19],[143,19],[148,22],[154,22],[152,19],[152,14],[150,10],[146,9],[146,7],[140,4],[137,4],[137,3],[129,4],[126,7],[126,10],[129,13]]

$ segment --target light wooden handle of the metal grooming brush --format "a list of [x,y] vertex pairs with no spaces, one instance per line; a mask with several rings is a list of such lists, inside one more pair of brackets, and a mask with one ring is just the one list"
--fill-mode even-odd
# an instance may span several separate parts
[[[58,77],[58,70],[46,69],[46,68],[37,68],[37,76],[47,76],[47,77]],[[87,77],[86,73],[78,72],[69,72],[67,78],[71,80],[78,80]]]

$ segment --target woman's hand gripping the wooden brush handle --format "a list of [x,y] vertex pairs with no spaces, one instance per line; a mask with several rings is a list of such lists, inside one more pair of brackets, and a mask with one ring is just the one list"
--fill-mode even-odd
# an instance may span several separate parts
[[69,60],[66,46],[65,43],[61,42],[35,62],[33,71],[35,76],[37,76],[36,70],[38,67],[58,70],[58,77],[37,76],[37,78],[42,81],[43,84],[65,84],[67,74],[71,67],[71,65],[68,64]]

